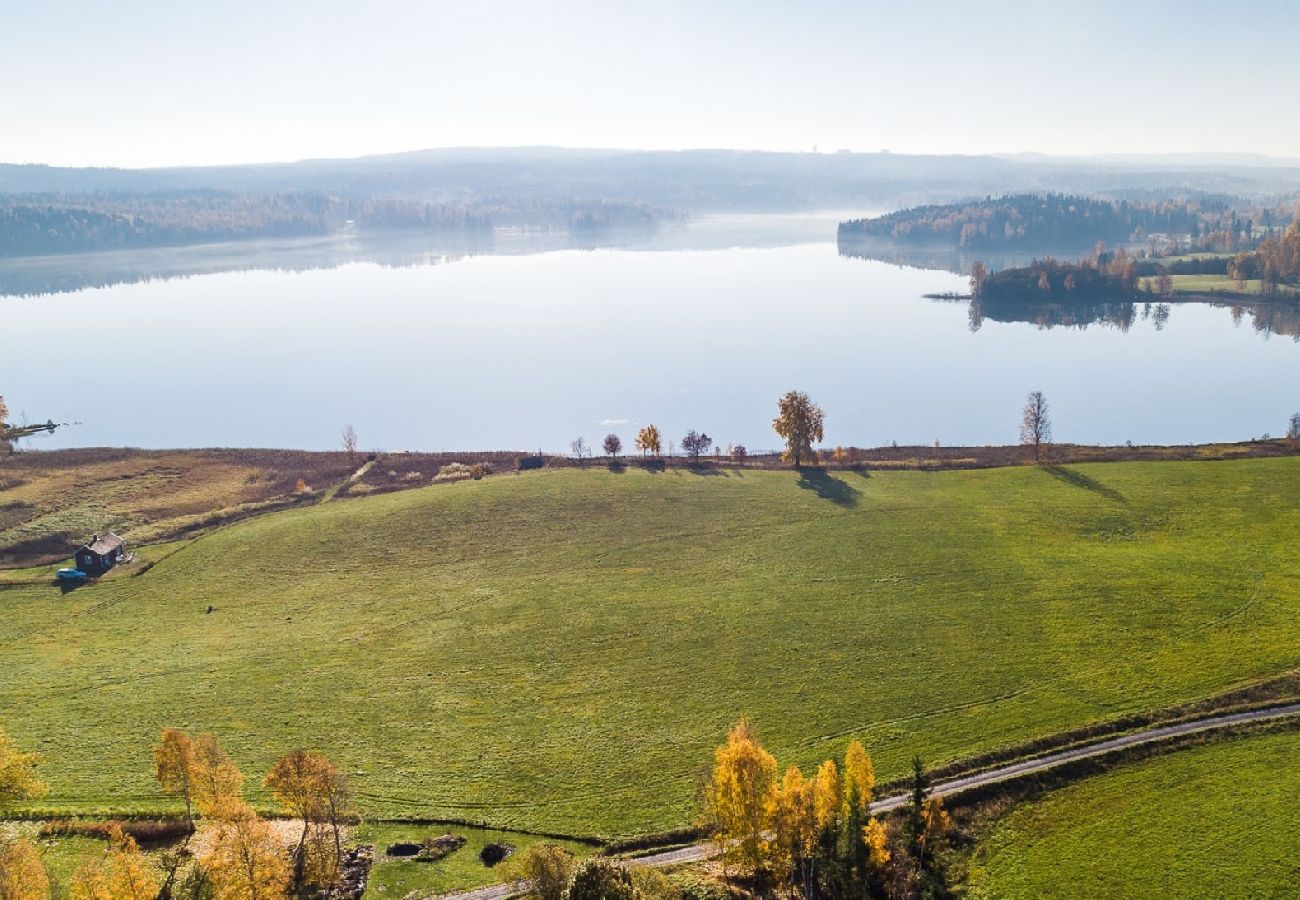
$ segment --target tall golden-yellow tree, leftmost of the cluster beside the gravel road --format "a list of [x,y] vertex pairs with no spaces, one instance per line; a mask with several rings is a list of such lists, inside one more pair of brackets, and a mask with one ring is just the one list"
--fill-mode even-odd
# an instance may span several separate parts
[[776,757],[759,745],[753,727],[742,719],[714,754],[708,805],[714,836],[723,845],[724,857],[749,871],[767,862],[766,834],[772,822],[775,793]]

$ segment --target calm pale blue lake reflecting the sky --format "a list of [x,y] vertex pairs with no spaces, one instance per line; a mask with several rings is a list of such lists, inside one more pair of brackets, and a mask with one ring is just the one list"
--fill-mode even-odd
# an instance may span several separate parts
[[32,449],[333,449],[351,423],[367,449],[562,450],[653,421],[755,450],[792,388],[858,446],[1014,442],[1030,390],[1058,441],[1244,440],[1300,408],[1294,312],[1271,333],[1258,311],[1141,304],[1127,326],[974,329],[922,297],[965,278],[842,256],[838,218],[0,261],[0,393],[77,423]]

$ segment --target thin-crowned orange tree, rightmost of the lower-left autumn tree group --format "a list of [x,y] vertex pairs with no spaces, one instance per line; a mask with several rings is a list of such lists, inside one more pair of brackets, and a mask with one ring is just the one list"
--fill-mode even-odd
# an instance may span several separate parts
[[333,884],[343,854],[339,826],[347,787],[342,773],[322,753],[294,750],[276,762],[263,784],[303,823],[292,854],[294,886]]

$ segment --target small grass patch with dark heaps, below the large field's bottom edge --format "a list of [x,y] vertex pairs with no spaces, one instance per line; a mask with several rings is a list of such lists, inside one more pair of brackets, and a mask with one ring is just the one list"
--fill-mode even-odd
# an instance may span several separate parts
[[[437,838],[447,832],[465,838],[465,845],[437,862],[393,860],[384,854],[385,848],[396,841],[420,843],[425,838]],[[490,843],[511,844],[516,853],[538,841],[559,844],[578,854],[592,852],[589,845],[573,841],[464,826],[363,825],[354,831],[354,841],[374,844],[374,866],[370,869],[364,895],[367,900],[400,899],[411,892],[422,896],[468,891],[495,884],[502,880],[500,866],[488,867],[478,860],[478,851]]]

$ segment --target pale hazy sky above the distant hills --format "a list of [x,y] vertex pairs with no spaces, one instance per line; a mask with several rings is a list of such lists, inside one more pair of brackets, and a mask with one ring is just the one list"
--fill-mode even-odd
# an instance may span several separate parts
[[4,0],[0,161],[1300,155],[1300,3]]

